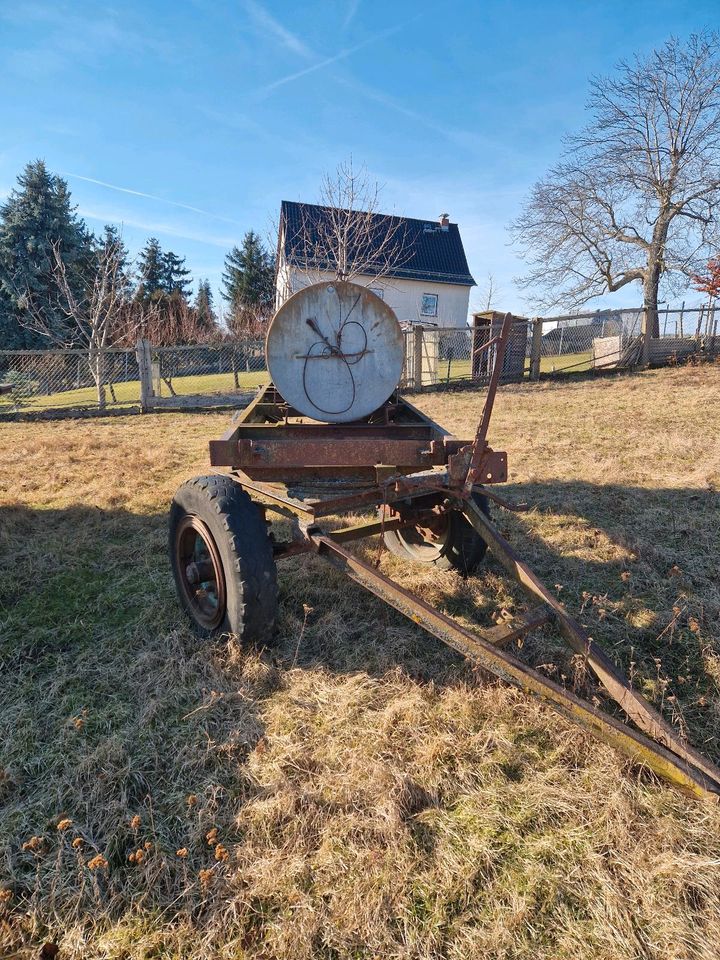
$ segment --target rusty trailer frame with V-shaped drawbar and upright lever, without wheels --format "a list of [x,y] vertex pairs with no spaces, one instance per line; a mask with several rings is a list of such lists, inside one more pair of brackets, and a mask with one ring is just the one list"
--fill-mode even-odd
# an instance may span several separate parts
[[[484,670],[549,703],[567,719],[622,751],[657,775],[696,796],[720,800],[720,770],[687,744],[635,690],[609,657],[530,570],[478,508],[481,492],[509,510],[513,505],[488,489],[507,479],[507,457],[493,450],[488,430],[513,318],[483,349],[496,359],[473,441],[457,440],[407,401],[394,398],[355,424],[303,422],[270,384],[220,440],[211,441],[211,462],[234,468],[237,481],[263,508],[293,520],[293,539],[274,543],[278,559],[314,552]],[[298,422],[300,420],[300,422]],[[308,457],[310,460],[308,460]],[[438,469],[444,467],[444,469]],[[289,485],[312,478],[365,481],[361,489],[316,499],[295,496]],[[389,515],[336,530],[318,526],[323,517],[373,506]],[[428,515],[459,510],[487,543],[496,560],[539,606],[527,616],[496,627],[460,626],[341,546],[389,530],[417,525]],[[504,650],[547,623],[558,628],[599,682],[637,727],[609,716]]]

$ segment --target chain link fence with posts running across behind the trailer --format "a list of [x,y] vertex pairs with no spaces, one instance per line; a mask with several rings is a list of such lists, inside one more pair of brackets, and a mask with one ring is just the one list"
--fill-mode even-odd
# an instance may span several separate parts
[[[642,336],[643,310],[604,310],[515,318],[503,382],[667,364],[720,356],[720,313],[712,305],[662,309],[658,337]],[[472,327],[407,325],[400,387],[439,390],[483,386],[497,358],[502,314],[475,316]],[[86,350],[0,351],[0,416],[71,410],[244,406],[269,374],[262,339],[104,351],[101,383]]]

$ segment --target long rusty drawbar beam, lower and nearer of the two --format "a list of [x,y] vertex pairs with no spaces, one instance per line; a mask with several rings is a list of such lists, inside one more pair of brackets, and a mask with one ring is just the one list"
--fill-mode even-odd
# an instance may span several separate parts
[[459,626],[444,613],[348,553],[322,531],[310,530],[308,533],[320,556],[483,669],[540,697],[569,720],[585,727],[681,789],[716,802],[720,799],[720,771],[707,761],[698,764],[694,758],[686,758],[685,753],[675,749],[682,747],[676,738],[673,738],[669,749],[654,743],[614,717],[603,714],[594,704],[587,703],[511,654],[498,649],[491,638],[483,638],[481,630],[471,633]]

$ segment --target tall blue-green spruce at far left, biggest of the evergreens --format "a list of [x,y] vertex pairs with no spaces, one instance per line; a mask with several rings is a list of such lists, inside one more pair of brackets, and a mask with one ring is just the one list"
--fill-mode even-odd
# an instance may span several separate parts
[[67,183],[36,160],[0,206],[0,338],[6,349],[48,346],[45,337],[24,327],[28,299],[56,339],[71,338],[53,275],[56,245],[69,283],[81,296],[92,270],[92,238],[75,213]]

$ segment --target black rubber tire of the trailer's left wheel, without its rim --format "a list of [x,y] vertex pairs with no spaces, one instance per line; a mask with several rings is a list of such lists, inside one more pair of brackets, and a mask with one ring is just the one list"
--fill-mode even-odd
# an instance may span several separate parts
[[[211,625],[188,598],[179,559],[183,527],[199,520],[212,538],[224,577],[222,608]],[[170,563],[180,603],[200,637],[233,634],[243,643],[265,643],[277,618],[277,568],[268,529],[258,506],[226,474],[195,477],[170,507]]]

